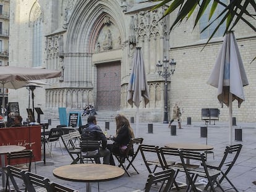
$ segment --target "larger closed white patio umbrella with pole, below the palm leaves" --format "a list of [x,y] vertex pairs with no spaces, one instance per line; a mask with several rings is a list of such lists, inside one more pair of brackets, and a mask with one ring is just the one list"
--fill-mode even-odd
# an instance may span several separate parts
[[224,37],[223,45],[208,84],[218,88],[218,100],[229,108],[229,144],[233,141],[232,103],[245,101],[243,86],[249,85],[233,31]]

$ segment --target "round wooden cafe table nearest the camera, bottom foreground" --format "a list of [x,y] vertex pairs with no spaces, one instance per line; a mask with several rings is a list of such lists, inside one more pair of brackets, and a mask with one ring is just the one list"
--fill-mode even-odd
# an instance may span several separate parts
[[53,175],[70,182],[86,182],[86,191],[91,192],[90,182],[106,182],[124,175],[124,169],[105,164],[71,164],[53,170]]

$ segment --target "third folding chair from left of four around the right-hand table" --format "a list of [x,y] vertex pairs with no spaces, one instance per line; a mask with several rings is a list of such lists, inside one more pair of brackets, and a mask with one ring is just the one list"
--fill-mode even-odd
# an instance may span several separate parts
[[[215,184],[217,184],[221,191],[224,191],[217,180],[218,176],[221,174],[221,171],[207,168],[207,165],[205,164],[206,157],[204,153],[181,150],[179,151],[179,155],[181,157],[183,169],[186,172],[187,180],[189,181],[187,191],[198,191],[197,187],[195,186],[195,182],[197,181],[198,177],[207,178],[208,184],[213,192],[216,192],[214,187]],[[194,162],[196,161],[198,162],[198,165],[202,166],[195,169],[190,169],[185,163],[187,160],[193,160]]]

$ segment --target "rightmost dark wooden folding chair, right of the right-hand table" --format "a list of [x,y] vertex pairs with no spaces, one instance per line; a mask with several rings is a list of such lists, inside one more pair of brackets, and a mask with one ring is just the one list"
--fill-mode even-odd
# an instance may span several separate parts
[[[234,189],[238,192],[237,188],[233,185],[231,180],[227,177],[229,171],[232,169],[233,165],[236,163],[237,157],[239,156],[242,149],[242,144],[234,144],[231,146],[226,146],[224,151],[224,156],[220,163],[216,164],[215,162],[206,162],[207,167],[210,169],[220,170],[222,177],[220,178],[219,182],[223,182],[224,178],[228,181],[228,183],[232,186],[226,190]],[[207,185],[208,188],[208,185]]]

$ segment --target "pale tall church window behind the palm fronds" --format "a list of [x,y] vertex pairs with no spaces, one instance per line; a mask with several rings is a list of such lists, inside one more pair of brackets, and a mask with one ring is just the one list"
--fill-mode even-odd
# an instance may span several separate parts
[[[223,3],[227,3],[226,0],[222,0],[221,2]],[[213,14],[213,16],[211,17],[210,20],[208,20],[209,15],[210,15],[210,9],[211,9],[211,5],[212,5],[213,1],[210,1],[207,9],[205,10],[205,12],[203,13],[200,22],[199,22],[199,26],[200,26],[200,31],[203,30],[203,28],[207,27],[207,25],[209,23],[211,23],[213,20],[216,19],[216,17],[218,17],[218,15],[224,10],[224,6],[221,6],[220,4],[218,4],[218,6],[216,7],[215,13]],[[211,34],[213,33],[213,31],[215,30],[215,28],[217,27],[217,25],[221,22],[221,20],[223,19],[223,17],[220,17],[218,20],[216,20],[215,22],[211,23],[211,25],[202,33],[200,33],[200,40],[203,39],[207,39],[211,36]],[[224,22],[220,28],[218,28],[218,30],[216,31],[215,35],[213,37],[216,36],[223,36],[224,34],[224,30],[226,29],[226,22]]]

